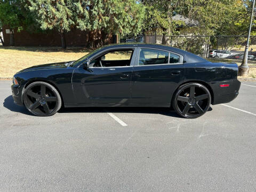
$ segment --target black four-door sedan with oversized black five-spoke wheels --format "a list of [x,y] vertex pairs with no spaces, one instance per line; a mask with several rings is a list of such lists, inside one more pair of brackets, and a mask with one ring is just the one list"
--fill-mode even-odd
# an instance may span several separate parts
[[230,102],[241,83],[238,67],[212,63],[174,47],[115,44],[77,61],[23,69],[12,96],[37,116],[63,107],[172,107],[196,118],[210,105]]

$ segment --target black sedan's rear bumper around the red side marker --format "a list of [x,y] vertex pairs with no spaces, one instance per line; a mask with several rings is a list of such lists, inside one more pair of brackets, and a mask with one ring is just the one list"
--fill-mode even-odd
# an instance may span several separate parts
[[[229,86],[220,87],[221,84],[229,84]],[[239,82],[237,79],[234,79],[234,81],[213,83],[211,85],[214,93],[212,105],[228,103],[234,100],[239,93],[240,86],[241,82]]]

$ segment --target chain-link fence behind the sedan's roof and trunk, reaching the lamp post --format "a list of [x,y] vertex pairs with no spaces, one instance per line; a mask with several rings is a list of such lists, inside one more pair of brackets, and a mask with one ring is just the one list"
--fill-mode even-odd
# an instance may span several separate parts
[[[241,63],[247,36],[162,36],[139,35],[121,38],[121,43],[156,43],[166,44],[189,51],[203,58],[223,59]],[[248,62],[256,63],[256,36],[250,37]]]

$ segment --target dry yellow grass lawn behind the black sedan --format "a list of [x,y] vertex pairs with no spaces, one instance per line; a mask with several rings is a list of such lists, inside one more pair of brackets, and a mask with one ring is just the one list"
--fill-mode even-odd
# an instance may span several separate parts
[[[12,77],[21,69],[45,63],[77,60],[91,49],[82,47],[68,47],[66,50],[60,47],[3,47],[0,46],[0,77]],[[118,55],[116,55],[118,58]],[[237,60],[209,59],[211,62],[236,62]],[[256,63],[249,61],[249,77],[256,77]]]

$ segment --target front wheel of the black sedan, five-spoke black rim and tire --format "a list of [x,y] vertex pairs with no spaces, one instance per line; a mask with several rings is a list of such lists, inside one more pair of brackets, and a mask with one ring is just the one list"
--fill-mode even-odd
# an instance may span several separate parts
[[60,93],[46,82],[29,84],[22,98],[25,107],[36,116],[51,116],[61,108]]

